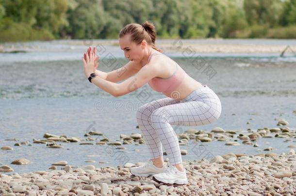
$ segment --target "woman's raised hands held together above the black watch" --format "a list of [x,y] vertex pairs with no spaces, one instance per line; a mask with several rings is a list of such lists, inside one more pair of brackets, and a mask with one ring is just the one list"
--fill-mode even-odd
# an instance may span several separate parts
[[96,58],[95,53],[93,53],[91,46],[89,46],[87,51],[89,52],[84,53],[82,57],[84,74],[86,78],[88,78],[90,74],[95,73],[98,67],[98,63],[97,63],[98,59]]

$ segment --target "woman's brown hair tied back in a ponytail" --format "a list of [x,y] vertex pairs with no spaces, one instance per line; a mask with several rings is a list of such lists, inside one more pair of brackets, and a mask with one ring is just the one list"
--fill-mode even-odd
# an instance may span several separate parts
[[145,40],[148,45],[159,52],[163,52],[161,49],[155,46],[155,38],[156,38],[156,31],[155,27],[152,23],[146,21],[142,24],[131,23],[126,25],[122,30],[119,32],[119,38],[131,35],[131,41],[135,42],[136,44],[141,44],[143,40]]

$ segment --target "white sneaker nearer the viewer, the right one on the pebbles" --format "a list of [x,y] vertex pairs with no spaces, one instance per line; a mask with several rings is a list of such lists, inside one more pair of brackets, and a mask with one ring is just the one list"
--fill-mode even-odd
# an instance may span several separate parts
[[167,184],[187,184],[186,169],[179,171],[175,166],[169,166],[163,173],[153,175],[153,180]]

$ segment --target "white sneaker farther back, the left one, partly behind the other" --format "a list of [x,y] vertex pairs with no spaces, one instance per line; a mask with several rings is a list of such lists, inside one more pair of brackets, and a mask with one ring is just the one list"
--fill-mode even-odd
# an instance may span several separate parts
[[167,169],[166,163],[164,163],[164,166],[160,168],[160,167],[154,166],[153,162],[150,159],[143,166],[131,167],[130,172],[135,176],[148,177],[154,174],[162,173],[166,169]]

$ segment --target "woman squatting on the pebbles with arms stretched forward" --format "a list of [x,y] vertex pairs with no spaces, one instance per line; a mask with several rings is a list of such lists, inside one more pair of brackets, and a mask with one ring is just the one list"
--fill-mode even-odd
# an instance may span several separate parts
[[[92,51],[89,47],[82,58],[84,73],[90,82],[116,97],[146,83],[167,96],[137,111],[137,122],[150,159],[143,166],[131,167],[130,171],[137,176],[153,175],[155,181],[186,184],[178,137],[171,125],[210,124],[220,117],[221,103],[213,90],[187,75],[174,60],[165,56],[155,46],[155,38],[153,24],[128,24],[119,33],[119,45],[130,61],[118,70],[101,72],[97,70],[96,48]],[[120,72],[123,74],[118,75]],[[164,163],[162,146],[170,166]]]

